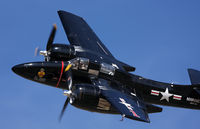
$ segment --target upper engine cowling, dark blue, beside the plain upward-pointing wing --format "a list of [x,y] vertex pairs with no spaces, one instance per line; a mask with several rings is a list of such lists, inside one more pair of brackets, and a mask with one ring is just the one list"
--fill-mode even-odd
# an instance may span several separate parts
[[72,45],[52,44],[49,51],[50,61],[70,60],[76,55],[76,51]]

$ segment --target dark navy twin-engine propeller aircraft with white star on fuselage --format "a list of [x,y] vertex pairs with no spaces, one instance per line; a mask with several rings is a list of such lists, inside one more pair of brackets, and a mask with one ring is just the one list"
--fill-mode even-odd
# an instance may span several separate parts
[[[200,109],[200,72],[188,69],[192,85],[163,83],[131,74],[135,68],[117,60],[85,20],[58,11],[70,45],[53,43],[53,26],[45,61],[16,65],[12,70],[35,82],[64,90],[68,103],[91,112],[121,114],[122,118],[150,122],[157,105]],[[154,105],[155,104],[155,105]]]

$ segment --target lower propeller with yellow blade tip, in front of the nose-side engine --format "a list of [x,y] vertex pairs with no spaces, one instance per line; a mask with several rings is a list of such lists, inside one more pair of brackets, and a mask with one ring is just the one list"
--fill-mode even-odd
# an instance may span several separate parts
[[67,99],[63,105],[62,111],[59,116],[59,121],[62,120],[62,117],[65,113],[68,103],[73,103],[73,96],[72,96],[72,72],[71,72],[72,64],[69,63],[65,68],[65,77],[66,77],[66,85],[68,87],[68,91],[64,91],[64,95],[67,96]]

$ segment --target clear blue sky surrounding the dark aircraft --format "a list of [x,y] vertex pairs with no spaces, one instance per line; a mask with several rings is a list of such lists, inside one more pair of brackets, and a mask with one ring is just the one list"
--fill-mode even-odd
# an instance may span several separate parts
[[163,107],[151,123],[68,106],[60,89],[25,80],[15,64],[42,61],[52,24],[55,42],[69,43],[57,10],[84,17],[113,55],[146,78],[190,84],[187,68],[200,70],[199,0],[1,0],[0,128],[2,129],[199,129],[200,111]]

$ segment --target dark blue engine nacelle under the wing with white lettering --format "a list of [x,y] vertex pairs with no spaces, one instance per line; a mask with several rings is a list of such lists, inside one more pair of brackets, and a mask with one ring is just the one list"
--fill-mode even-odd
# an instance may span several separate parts
[[72,87],[72,93],[72,105],[77,108],[99,113],[119,113],[103,96],[101,96],[101,90],[95,85],[74,85]]

